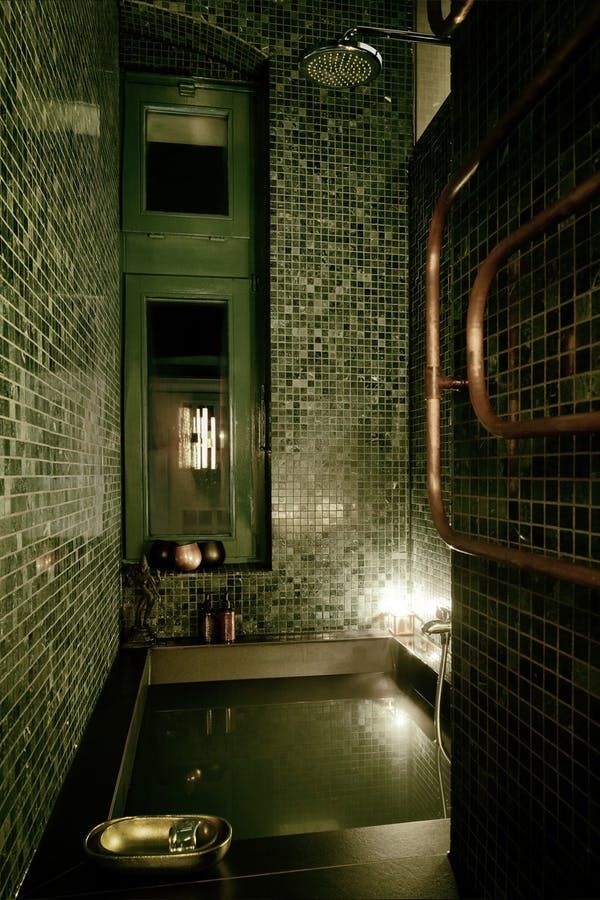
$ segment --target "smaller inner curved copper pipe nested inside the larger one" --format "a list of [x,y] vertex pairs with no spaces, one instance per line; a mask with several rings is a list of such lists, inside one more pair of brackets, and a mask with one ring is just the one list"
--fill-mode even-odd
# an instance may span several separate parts
[[492,434],[505,438],[535,437],[561,433],[600,431],[600,411],[565,416],[548,416],[528,421],[500,419],[487,392],[484,359],[483,320],[489,290],[498,269],[524,244],[533,241],[553,225],[587,205],[600,192],[600,173],[592,175],[569,194],[534,216],[494,247],[479,269],[471,289],[467,311],[467,376],[471,403],[481,424]]

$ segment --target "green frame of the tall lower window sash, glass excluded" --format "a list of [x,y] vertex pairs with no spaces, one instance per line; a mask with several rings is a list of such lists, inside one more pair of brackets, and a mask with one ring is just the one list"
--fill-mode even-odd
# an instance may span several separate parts
[[[229,343],[229,471],[231,528],[220,533],[152,533],[149,515],[147,306],[209,302],[227,306]],[[241,279],[128,275],[125,279],[124,460],[125,556],[139,559],[155,540],[215,538],[231,563],[264,558],[262,527],[264,414],[253,349],[254,306]]]

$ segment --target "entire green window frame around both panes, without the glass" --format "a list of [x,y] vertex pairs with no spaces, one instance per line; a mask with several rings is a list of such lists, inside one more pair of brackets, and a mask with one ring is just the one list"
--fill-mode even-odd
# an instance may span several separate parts
[[[129,74],[124,92],[124,556],[128,561],[139,560],[155,540],[217,539],[225,546],[226,564],[268,565],[267,324],[264,279],[259,277],[267,266],[267,226],[264,186],[257,190],[255,184],[262,105],[248,85],[175,76]],[[181,127],[184,136],[188,134],[185,117],[212,116],[226,122],[226,129],[216,131],[227,133],[227,215],[144,208],[148,113],[174,116],[179,121],[175,127]],[[151,121],[151,141],[157,121]],[[163,126],[160,121],[159,130]],[[262,146],[266,146],[264,140]],[[261,174],[264,177],[264,171]],[[231,527],[221,532],[154,533],[150,527],[158,517],[150,515],[149,502],[146,323],[148,304],[157,300],[174,305],[208,302],[227,308]],[[174,393],[176,381],[171,388]],[[176,503],[174,499],[172,509]]]

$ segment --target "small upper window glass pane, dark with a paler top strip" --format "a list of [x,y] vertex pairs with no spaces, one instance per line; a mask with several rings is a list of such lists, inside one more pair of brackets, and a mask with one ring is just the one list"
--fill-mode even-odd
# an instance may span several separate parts
[[226,116],[146,112],[148,212],[229,215]]

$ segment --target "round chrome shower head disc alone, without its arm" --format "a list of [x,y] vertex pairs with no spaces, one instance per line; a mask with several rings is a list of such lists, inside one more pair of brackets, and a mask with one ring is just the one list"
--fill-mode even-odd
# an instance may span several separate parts
[[322,87],[368,84],[382,68],[381,54],[374,47],[345,37],[309,50],[300,60],[302,74]]

